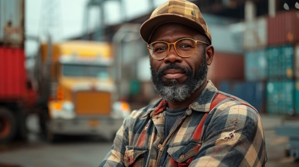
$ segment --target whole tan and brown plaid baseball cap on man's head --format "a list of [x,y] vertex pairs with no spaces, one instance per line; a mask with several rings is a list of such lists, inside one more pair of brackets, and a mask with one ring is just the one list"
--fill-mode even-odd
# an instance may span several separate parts
[[141,25],[141,38],[148,43],[154,30],[168,22],[191,26],[206,35],[212,43],[210,30],[199,8],[196,4],[185,0],[170,0],[157,7],[150,18]]

